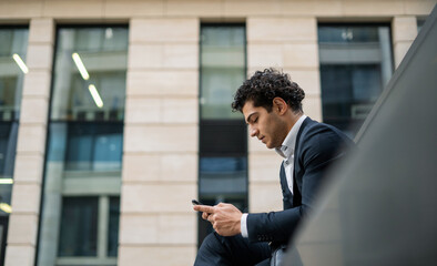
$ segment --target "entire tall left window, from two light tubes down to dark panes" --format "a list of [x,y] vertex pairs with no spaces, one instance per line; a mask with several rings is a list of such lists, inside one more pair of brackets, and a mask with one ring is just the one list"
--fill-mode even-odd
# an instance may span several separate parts
[[116,265],[128,28],[60,27],[39,266]]

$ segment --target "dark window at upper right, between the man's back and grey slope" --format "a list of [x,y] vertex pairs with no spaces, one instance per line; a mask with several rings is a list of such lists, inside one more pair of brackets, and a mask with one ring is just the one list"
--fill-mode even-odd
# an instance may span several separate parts
[[323,121],[350,136],[393,73],[390,28],[319,24]]

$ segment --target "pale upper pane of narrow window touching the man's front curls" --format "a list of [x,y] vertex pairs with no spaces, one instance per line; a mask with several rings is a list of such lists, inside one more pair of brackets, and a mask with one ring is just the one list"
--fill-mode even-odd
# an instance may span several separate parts
[[246,76],[245,53],[244,25],[202,25],[202,119],[241,119],[231,111],[231,102]]

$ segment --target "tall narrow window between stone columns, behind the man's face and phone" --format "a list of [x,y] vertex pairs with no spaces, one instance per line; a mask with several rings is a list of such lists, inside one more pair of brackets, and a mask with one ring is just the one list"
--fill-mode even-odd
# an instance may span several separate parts
[[[201,25],[199,198],[247,211],[247,136],[231,103],[246,78],[244,24]],[[199,245],[212,232],[199,216]]]

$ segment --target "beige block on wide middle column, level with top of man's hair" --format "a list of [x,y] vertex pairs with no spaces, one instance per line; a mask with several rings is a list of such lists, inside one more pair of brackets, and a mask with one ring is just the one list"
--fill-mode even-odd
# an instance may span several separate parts
[[128,95],[194,96],[199,95],[197,70],[130,70]]

